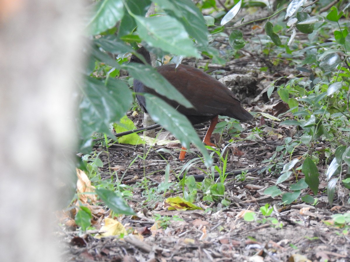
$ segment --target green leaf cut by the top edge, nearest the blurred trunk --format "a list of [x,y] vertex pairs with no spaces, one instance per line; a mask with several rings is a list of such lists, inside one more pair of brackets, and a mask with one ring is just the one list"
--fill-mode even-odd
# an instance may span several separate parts
[[123,17],[124,8],[122,0],[102,0],[94,6],[94,12],[87,30],[91,35],[98,35],[116,25]]

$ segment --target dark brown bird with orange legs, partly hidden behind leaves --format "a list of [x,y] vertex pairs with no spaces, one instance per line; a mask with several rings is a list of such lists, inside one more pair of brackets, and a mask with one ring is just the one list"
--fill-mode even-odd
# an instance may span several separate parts
[[[148,64],[151,64],[149,52],[141,47],[139,54],[145,57]],[[130,58],[131,62],[142,63],[135,55]],[[210,142],[210,137],[218,123],[218,116],[233,117],[240,121],[252,119],[252,115],[240,104],[239,99],[221,82],[203,71],[180,64],[176,69],[175,64],[167,64],[157,67],[165,79],[167,79],[194,108],[186,108],[178,102],[161,96],[154,89],[145,86],[139,80],[134,80],[134,91],[142,110],[147,113],[147,105],[142,93],[149,93],[161,97],[181,114],[185,115],[192,124],[200,124],[211,119],[209,128],[203,142],[208,146],[215,146]],[[179,159],[184,159],[186,148],[182,147]]]

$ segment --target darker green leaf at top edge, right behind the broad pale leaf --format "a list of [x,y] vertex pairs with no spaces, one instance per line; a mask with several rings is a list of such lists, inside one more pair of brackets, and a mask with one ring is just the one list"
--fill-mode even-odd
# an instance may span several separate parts
[[204,17],[193,1],[153,0],[153,2],[182,23],[188,34],[194,37],[199,44],[208,45],[208,29]]

